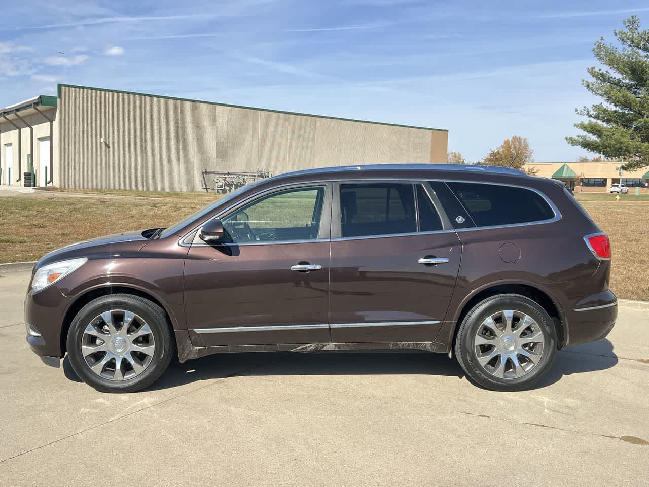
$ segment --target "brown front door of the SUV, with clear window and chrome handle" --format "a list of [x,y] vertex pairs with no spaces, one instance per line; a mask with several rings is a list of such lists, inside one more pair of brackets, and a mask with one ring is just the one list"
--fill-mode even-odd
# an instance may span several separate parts
[[332,183],[267,190],[221,215],[231,242],[194,238],[184,303],[195,346],[330,341],[331,198]]

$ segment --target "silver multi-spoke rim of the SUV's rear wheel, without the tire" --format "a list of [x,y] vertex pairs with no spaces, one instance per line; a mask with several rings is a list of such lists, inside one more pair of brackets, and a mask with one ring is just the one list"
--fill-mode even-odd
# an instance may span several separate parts
[[515,310],[488,316],[474,337],[478,363],[498,379],[518,379],[530,373],[541,360],[544,346],[541,327]]

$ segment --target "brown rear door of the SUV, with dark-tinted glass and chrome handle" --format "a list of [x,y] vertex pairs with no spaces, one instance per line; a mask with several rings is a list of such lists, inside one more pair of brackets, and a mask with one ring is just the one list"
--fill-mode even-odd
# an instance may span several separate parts
[[461,247],[430,186],[341,181],[333,208],[332,342],[434,341]]

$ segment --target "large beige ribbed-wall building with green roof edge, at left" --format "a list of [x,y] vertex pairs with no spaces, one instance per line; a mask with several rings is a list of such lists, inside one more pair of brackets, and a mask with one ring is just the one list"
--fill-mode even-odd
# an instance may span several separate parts
[[[53,122],[39,112],[51,114]],[[448,131],[439,129],[69,84],[58,85],[58,97],[36,97],[2,114],[0,181],[8,181],[8,168],[12,183],[19,184],[18,168],[27,171],[27,156],[34,154],[36,182],[61,188],[199,191],[204,169],[278,174],[322,166],[441,163],[448,144]],[[47,160],[42,141],[49,125],[53,153]],[[38,141],[34,149],[31,140]]]

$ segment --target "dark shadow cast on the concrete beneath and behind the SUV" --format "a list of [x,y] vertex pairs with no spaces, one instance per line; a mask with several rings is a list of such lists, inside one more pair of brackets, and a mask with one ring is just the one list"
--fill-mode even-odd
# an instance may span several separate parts
[[[554,384],[564,375],[609,369],[617,362],[613,343],[609,340],[559,350],[552,369],[533,388]],[[69,380],[81,382],[67,356],[63,360],[63,371]],[[422,351],[223,353],[195,358],[184,364],[180,364],[175,357],[162,377],[144,392],[236,376],[383,374],[464,377],[455,358]]]

